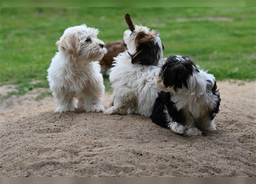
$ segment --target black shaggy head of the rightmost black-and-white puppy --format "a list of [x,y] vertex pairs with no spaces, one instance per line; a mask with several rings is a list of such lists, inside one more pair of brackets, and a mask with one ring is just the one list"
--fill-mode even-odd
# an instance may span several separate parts
[[188,80],[195,72],[199,71],[188,57],[171,55],[162,66],[156,83],[162,91],[174,93],[188,88]]

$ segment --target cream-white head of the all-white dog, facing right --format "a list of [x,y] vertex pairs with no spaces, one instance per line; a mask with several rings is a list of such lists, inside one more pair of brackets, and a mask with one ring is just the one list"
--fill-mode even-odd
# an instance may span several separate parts
[[104,42],[97,38],[99,31],[85,24],[67,28],[57,41],[59,51],[64,51],[74,60],[92,62],[105,55]]

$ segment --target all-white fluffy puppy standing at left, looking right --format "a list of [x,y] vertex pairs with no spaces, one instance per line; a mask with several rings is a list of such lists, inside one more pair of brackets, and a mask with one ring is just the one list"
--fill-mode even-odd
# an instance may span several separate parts
[[74,110],[74,97],[78,98],[79,109],[104,111],[105,87],[100,64],[94,61],[102,59],[106,48],[97,39],[98,32],[83,24],[67,28],[57,41],[59,52],[52,58],[47,76],[57,104],[55,112]]

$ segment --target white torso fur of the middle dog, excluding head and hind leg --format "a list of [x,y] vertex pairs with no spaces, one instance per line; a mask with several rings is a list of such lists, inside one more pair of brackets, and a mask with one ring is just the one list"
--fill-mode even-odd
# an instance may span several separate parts
[[114,58],[113,68],[109,74],[110,82],[115,89],[115,98],[124,98],[128,93],[133,94],[137,101],[136,112],[133,113],[150,116],[159,92],[154,82],[158,71],[158,66],[132,64],[127,52],[120,53]]

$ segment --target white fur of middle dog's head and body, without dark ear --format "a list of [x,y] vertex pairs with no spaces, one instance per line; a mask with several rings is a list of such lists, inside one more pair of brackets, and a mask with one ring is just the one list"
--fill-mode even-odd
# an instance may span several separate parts
[[[131,55],[136,53],[135,38],[138,32],[149,33],[150,29],[144,26],[135,26],[135,30],[125,30],[124,42],[127,50],[114,58],[113,68],[109,79],[112,83],[113,94],[110,108],[105,114],[140,114],[149,117],[152,113],[155,99],[160,91],[154,82],[159,66],[132,64]],[[155,41],[161,48],[160,58],[163,57],[162,43],[158,32],[151,31]],[[160,61],[162,64],[163,60]]]

